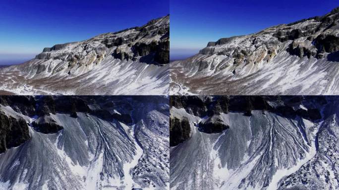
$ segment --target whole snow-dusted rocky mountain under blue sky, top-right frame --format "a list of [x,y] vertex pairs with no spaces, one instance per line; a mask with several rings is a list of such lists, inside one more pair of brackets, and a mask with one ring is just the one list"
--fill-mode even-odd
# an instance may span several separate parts
[[339,8],[170,63],[171,95],[339,95]]

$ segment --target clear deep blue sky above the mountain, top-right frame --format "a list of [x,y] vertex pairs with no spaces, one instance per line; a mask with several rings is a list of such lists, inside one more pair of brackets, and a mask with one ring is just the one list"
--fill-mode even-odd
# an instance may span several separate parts
[[195,54],[209,41],[320,16],[338,0],[170,0],[171,58]]

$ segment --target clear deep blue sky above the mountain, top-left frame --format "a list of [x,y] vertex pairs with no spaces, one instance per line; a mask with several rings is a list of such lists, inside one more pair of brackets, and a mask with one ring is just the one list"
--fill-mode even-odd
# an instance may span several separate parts
[[0,64],[167,14],[169,0],[0,0]]

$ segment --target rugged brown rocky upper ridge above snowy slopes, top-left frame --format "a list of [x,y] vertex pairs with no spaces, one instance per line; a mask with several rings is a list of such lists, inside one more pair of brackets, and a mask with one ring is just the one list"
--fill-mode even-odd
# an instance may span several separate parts
[[[61,63],[55,73],[68,68],[100,64],[106,56],[126,61],[164,65],[169,63],[169,15],[141,27],[106,33],[82,42],[46,47],[35,59]],[[40,64],[37,73],[48,67]],[[69,73],[70,74],[70,73]]]

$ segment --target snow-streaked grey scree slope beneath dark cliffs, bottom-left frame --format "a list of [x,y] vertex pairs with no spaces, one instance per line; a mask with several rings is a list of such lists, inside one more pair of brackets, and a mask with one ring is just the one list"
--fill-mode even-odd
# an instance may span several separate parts
[[168,97],[85,100],[91,110],[112,104],[105,109],[130,114],[132,122],[85,112],[50,113],[63,129],[43,134],[31,125],[38,116],[1,106],[0,111],[26,120],[31,139],[0,154],[0,190],[169,189]]

